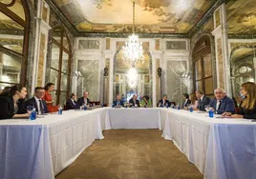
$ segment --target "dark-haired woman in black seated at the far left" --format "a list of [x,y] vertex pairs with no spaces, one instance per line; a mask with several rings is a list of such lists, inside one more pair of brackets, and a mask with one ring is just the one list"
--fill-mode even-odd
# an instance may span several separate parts
[[9,93],[0,97],[0,120],[11,118],[29,117],[26,113],[20,99],[24,99],[27,95],[25,87],[13,86]]

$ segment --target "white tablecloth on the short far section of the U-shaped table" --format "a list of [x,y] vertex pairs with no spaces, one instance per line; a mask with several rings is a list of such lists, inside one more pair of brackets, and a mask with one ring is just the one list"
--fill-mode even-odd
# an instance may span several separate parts
[[107,129],[161,129],[160,109],[108,109]]

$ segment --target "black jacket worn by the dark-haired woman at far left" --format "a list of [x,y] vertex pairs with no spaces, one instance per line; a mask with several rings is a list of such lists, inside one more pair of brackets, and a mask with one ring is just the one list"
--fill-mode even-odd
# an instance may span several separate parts
[[[24,100],[19,99],[17,102],[18,111],[16,113],[26,113],[24,111]],[[0,97],[0,120],[11,119],[15,114],[13,98],[11,95]]]

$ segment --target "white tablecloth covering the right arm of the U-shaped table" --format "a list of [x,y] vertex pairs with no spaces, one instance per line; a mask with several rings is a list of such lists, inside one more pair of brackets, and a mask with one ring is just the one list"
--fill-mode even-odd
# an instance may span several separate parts
[[173,140],[205,179],[256,178],[256,124],[209,118],[206,113],[164,109],[163,134]]

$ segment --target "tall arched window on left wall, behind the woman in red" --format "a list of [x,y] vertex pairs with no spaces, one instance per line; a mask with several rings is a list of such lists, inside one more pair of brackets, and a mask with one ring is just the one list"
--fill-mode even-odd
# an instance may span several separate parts
[[70,42],[62,28],[53,30],[50,82],[55,84],[54,101],[63,105],[69,96],[71,72]]

